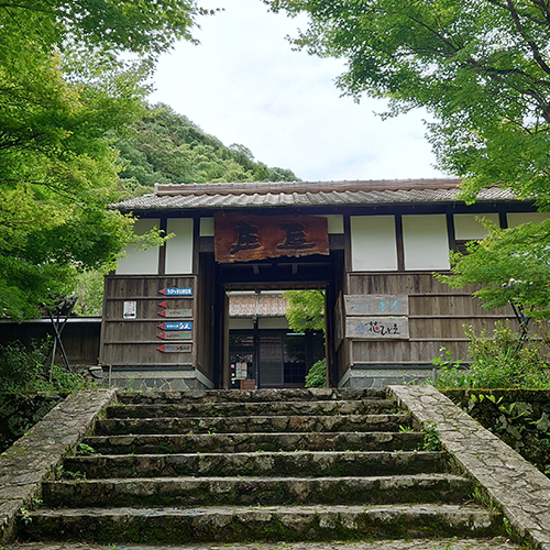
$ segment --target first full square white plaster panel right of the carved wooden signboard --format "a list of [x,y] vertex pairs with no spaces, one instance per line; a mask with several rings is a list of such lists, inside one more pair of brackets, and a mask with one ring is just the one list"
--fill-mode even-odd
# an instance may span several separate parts
[[352,216],[350,224],[354,272],[397,271],[394,216]]

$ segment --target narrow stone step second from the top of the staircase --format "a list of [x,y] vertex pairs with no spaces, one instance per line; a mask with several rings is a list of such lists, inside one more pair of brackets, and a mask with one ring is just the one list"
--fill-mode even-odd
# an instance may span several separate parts
[[[145,395],[145,394],[143,394]],[[108,418],[383,415],[396,411],[392,399],[356,402],[167,403],[109,407]]]

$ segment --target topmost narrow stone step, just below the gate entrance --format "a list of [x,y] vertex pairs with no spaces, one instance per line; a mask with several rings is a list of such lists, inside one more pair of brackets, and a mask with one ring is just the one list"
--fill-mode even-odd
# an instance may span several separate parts
[[199,389],[185,392],[119,392],[118,398],[127,405],[322,402],[386,399],[386,392],[384,389],[369,388]]

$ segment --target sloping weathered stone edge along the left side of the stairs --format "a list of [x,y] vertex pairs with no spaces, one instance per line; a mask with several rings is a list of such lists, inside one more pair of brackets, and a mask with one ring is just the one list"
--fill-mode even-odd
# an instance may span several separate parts
[[75,392],[0,454],[0,544],[13,540],[19,510],[40,498],[42,482],[116,400],[116,389]]

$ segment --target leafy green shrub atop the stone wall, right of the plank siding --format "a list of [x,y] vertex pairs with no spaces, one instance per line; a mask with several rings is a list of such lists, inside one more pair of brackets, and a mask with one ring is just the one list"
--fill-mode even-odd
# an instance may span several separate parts
[[497,321],[492,337],[485,330],[476,337],[472,327],[465,327],[465,332],[472,364],[465,370],[460,362],[452,363],[442,348],[442,355],[433,361],[439,367],[437,387],[550,388],[547,351],[538,341],[520,342],[509,322]]

